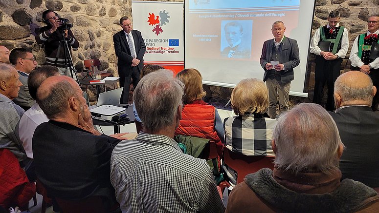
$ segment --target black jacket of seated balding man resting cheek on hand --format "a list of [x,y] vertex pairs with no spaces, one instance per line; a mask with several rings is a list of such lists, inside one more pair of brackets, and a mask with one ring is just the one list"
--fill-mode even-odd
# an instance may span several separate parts
[[111,154],[120,140],[95,136],[68,123],[49,120],[33,135],[37,178],[48,194],[62,199],[104,196],[115,202]]

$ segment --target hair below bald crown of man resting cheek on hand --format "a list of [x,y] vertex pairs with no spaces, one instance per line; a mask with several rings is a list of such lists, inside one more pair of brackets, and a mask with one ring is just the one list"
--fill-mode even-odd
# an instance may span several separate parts
[[49,119],[64,116],[67,112],[67,101],[71,97],[77,97],[75,89],[67,80],[62,80],[52,85],[47,94],[37,90],[37,103]]

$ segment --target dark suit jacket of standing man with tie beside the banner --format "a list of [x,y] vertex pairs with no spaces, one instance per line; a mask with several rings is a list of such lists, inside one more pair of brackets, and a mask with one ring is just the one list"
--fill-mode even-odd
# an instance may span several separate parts
[[[135,54],[136,58],[141,62],[138,64],[139,71],[143,68],[143,56],[145,55],[146,45],[141,36],[141,32],[137,30],[132,30]],[[128,76],[129,72],[132,70],[132,56],[129,49],[128,41],[124,30],[113,35],[114,51],[118,57],[117,68],[118,75],[120,77]]]

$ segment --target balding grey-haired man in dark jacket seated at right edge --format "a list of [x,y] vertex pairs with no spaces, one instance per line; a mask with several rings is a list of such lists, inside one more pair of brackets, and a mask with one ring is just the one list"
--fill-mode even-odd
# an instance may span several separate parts
[[343,178],[351,178],[370,187],[379,187],[379,113],[371,104],[377,89],[363,72],[342,74],[334,83],[337,110],[330,112],[339,136],[346,146],[339,168]]

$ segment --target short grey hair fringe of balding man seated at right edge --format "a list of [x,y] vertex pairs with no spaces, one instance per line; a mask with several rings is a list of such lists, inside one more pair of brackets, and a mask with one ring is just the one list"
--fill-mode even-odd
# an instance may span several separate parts
[[344,75],[339,76],[334,82],[334,93],[342,97],[344,104],[349,104],[349,101],[362,100],[371,106],[374,97],[371,78],[367,77],[368,84],[363,86],[359,86],[359,84],[357,85],[349,80],[351,79],[344,78]]

